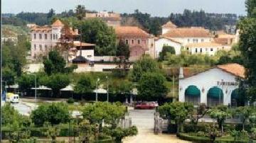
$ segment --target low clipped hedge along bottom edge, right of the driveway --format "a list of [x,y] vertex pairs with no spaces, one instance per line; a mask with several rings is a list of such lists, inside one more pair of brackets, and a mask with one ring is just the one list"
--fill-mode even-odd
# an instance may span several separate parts
[[[191,141],[191,142],[198,142],[198,143],[211,143],[209,137],[198,137],[198,136],[191,136],[186,133],[178,133],[177,137],[183,140]],[[221,139],[221,137],[215,140],[215,143],[247,143],[248,141],[234,141],[233,139]]]

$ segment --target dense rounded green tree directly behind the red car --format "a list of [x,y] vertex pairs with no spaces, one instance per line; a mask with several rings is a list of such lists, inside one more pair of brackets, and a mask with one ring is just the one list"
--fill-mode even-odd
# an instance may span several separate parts
[[165,86],[166,79],[159,73],[144,73],[139,80],[139,98],[145,101],[158,100],[166,96],[168,88]]

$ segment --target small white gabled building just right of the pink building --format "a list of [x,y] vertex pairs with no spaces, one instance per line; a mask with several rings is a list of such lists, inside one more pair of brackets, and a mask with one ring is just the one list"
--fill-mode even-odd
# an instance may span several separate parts
[[155,40],[156,57],[159,57],[159,53],[163,50],[164,46],[174,47],[175,54],[176,55],[181,54],[181,47],[182,47],[181,42],[178,42],[171,38],[162,37]]

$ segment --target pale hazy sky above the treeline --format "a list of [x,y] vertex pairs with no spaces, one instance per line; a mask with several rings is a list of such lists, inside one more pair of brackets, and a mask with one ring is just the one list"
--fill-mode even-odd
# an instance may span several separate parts
[[96,11],[132,13],[134,9],[150,13],[152,16],[169,16],[171,12],[182,13],[185,8],[205,10],[208,13],[237,13],[245,15],[245,0],[1,0],[3,13],[21,11],[56,13],[74,9],[78,4]]

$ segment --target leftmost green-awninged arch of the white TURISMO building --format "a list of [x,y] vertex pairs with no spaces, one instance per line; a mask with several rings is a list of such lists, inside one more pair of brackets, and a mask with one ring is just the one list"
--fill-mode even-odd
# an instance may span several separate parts
[[196,86],[188,86],[185,91],[185,102],[198,105],[200,103],[201,91]]

